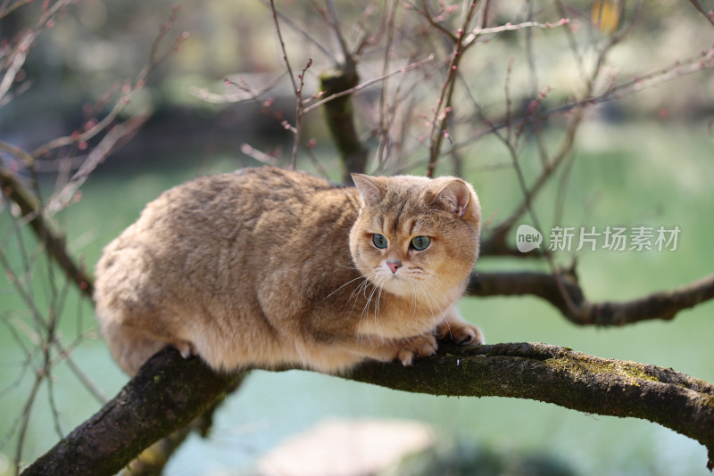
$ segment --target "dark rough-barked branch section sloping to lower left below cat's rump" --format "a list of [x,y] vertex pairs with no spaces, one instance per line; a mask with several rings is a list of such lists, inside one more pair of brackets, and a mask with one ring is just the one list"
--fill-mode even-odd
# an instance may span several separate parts
[[115,474],[146,447],[203,414],[238,378],[164,349],[115,398],[22,474],[52,475],[57,468],[74,476]]

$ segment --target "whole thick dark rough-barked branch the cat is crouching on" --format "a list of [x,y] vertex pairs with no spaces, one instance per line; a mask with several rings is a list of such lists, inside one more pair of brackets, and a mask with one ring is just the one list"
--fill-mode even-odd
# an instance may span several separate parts
[[[674,370],[537,343],[442,346],[416,365],[369,362],[347,379],[433,395],[527,398],[589,414],[635,417],[696,439],[714,468],[714,385]],[[212,406],[237,376],[174,349],[154,356],[97,414],[22,474],[110,475]]]

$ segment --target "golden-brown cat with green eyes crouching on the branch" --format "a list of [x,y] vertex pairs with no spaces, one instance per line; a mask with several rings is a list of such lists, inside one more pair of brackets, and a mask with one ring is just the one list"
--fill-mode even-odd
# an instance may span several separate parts
[[282,168],[162,193],[103,252],[95,303],[129,375],[171,345],[218,372],[411,365],[437,339],[484,342],[453,307],[478,256],[481,209],[455,177],[356,186]]

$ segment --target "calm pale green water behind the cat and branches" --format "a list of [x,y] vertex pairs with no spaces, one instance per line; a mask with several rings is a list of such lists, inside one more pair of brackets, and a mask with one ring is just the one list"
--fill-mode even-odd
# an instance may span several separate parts
[[[577,159],[565,195],[562,224],[571,226],[679,226],[676,251],[578,253],[578,271],[591,300],[627,300],[689,283],[714,272],[714,138],[706,127],[651,124],[638,128],[587,126],[581,131]],[[510,214],[521,194],[509,169],[485,171],[483,164],[503,161],[497,144],[475,147],[466,171],[480,195],[485,217],[498,222]],[[524,154],[524,168],[532,170]],[[228,161],[209,168],[129,172],[96,176],[82,200],[58,217],[69,230],[72,250],[95,263],[101,247],[133,220],[146,201],[171,185],[203,173],[228,170]],[[557,186],[536,201],[546,230],[552,225]],[[524,219],[523,223],[531,223]],[[13,246],[5,211],[0,240]],[[544,233],[547,234],[547,233]],[[514,236],[515,240],[515,236]],[[27,241],[28,243],[31,241]],[[33,245],[34,246],[34,245]],[[30,254],[37,250],[30,249]],[[572,253],[571,253],[572,254]],[[559,260],[569,262],[570,254]],[[19,255],[9,257],[16,265]],[[17,265],[19,266],[19,265]],[[481,270],[544,269],[514,259],[482,259]],[[41,259],[31,266],[46,273]],[[51,289],[34,290],[38,308],[48,306]],[[548,304],[534,299],[464,299],[461,312],[479,324],[487,341],[544,341],[600,357],[673,367],[714,382],[714,304],[679,314],[672,322],[644,322],[623,328],[578,327]],[[0,317],[16,323],[29,313],[9,283],[0,281]],[[79,328],[94,328],[92,309],[71,291],[64,305],[63,341]],[[0,333],[0,438],[21,411],[32,383],[18,380],[24,354],[4,326]],[[108,357],[104,343],[86,339],[72,357],[96,386],[112,397],[126,382]],[[2,390],[0,389],[0,390]],[[54,373],[54,401],[62,431],[68,432],[99,408],[65,365]],[[24,457],[32,460],[57,440],[48,392],[40,389],[33,407]],[[654,423],[580,414],[557,406],[507,398],[436,398],[348,382],[317,373],[254,372],[217,414],[208,439],[192,437],[171,460],[167,474],[245,474],[281,440],[320,420],[334,417],[388,417],[434,425],[444,438],[476,441],[500,452],[537,451],[557,455],[581,474],[704,475],[706,451],[697,442]],[[0,448],[0,475],[12,458],[14,443]]]

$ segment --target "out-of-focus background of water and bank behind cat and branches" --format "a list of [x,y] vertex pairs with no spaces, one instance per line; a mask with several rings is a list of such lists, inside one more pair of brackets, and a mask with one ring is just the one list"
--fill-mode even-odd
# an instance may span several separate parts
[[[440,28],[456,32],[466,4],[276,4],[295,77],[303,71],[306,100],[318,94],[320,74],[345,60],[336,30],[323,15],[338,20],[361,80],[397,71],[354,95],[356,127],[369,149],[369,172],[422,174],[452,50]],[[535,201],[546,238],[552,226],[564,225],[681,229],[677,250],[576,253],[573,248],[558,254],[561,265],[577,260],[590,300],[632,300],[712,273],[714,4],[485,4],[487,28],[540,24],[478,34],[459,65],[460,86],[437,172],[458,172],[475,185],[485,236],[523,201],[514,164],[532,183],[543,173],[544,160],[554,160],[570,137],[571,149]],[[18,39],[54,5],[4,2],[0,7],[4,74],[12,70],[11,53],[20,51],[13,49]],[[561,18],[569,21],[556,26]],[[431,62],[399,72],[429,54],[435,55]],[[308,59],[313,62],[303,70]],[[295,92],[285,71],[270,3],[69,3],[37,29],[21,70],[12,78],[5,74],[12,84],[0,79],[0,141],[35,159],[28,168],[4,148],[0,167],[17,169],[54,203],[112,129],[124,127],[116,129],[119,138],[104,143],[110,151],[81,188],[71,189],[70,198],[58,200],[52,210],[71,255],[91,270],[102,247],[170,186],[265,161],[289,164],[294,135],[284,121],[295,124]],[[527,117],[534,102],[549,111],[547,119],[519,125],[515,119]],[[583,119],[577,134],[569,135],[576,111],[583,111]],[[107,117],[105,135],[85,140],[85,133]],[[67,140],[53,145],[57,137]],[[301,137],[298,168],[338,181],[340,161],[320,109],[305,115]],[[91,303],[47,263],[27,221],[9,201],[0,202],[0,212],[4,475],[14,473],[18,455],[29,463],[46,452],[101,407],[101,396],[112,398],[128,379],[97,335]],[[519,223],[534,225],[532,217]],[[515,233],[511,239],[513,246]],[[521,269],[549,268],[543,259],[519,257],[484,256],[477,263],[477,270]],[[489,343],[544,341],[599,357],[673,367],[714,382],[710,302],[670,322],[621,328],[570,324],[534,298],[466,298],[460,308]],[[37,379],[42,333],[37,315],[56,323],[62,342],[62,351],[53,350],[51,379]],[[417,422],[432,435],[422,459],[410,459],[401,469],[392,462],[380,470],[384,473],[709,473],[704,447],[653,423],[515,399],[411,395],[298,371],[253,372],[220,407],[211,434],[190,437],[164,473],[268,473],[266,467],[279,466],[266,466],[271,451],[336,419]],[[377,430],[368,439],[385,434]],[[328,438],[314,446],[329,444]],[[348,460],[364,459],[361,452],[368,451],[357,441],[345,446]]]

